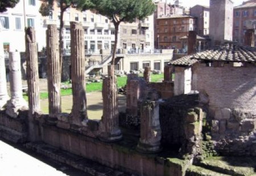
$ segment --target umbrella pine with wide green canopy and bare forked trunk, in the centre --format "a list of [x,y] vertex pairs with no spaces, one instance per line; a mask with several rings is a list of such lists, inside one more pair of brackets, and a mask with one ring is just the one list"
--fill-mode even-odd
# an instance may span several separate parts
[[108,17],[114,24],[115,42],[111,61],[114,65],[119,24],[121,22],[132,23],[136,19],[146,18],[154,12],[155,5],[152,0],[91,0],[90,3],[84,4],[83,10],[88,8]]

